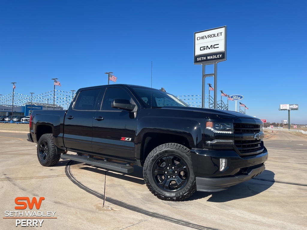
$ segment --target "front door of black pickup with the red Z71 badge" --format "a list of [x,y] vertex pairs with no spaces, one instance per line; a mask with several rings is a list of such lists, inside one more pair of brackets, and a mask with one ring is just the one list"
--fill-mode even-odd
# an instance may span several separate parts
[[113,99],[126,99],[131,104],[136,102],[125,88],[109,86],[106,89],[102,106],[96,111],[93,120],[92,150],[102,155],[134,158],[137,115],[126,110],[112,108]]

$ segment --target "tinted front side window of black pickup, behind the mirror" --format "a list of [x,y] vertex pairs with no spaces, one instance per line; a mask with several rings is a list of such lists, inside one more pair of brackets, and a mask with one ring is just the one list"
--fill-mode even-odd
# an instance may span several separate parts
[[106,93],[104,94],[101,110],[114,110],[121,111],[116,108],[111,107],[111,102],[113,99],[126,99],[128,101],[133,102],[130,95],[122,88],[107,88]]

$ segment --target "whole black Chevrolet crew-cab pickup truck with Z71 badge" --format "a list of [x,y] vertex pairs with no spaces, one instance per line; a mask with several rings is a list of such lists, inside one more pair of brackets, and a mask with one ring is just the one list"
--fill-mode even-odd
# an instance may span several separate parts
[[62,157],[130,173],[136,164],[148,189],[167,201],[247,181],[268,159],[258,118],[189,107],[163,88],[82,88],[68,110],[34,110],[29,122],[41,165]]

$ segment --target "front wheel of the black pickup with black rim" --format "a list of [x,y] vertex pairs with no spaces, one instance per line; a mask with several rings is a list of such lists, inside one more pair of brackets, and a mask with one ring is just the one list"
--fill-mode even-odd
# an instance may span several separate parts
[[165,201],[183,201],[196,191],[190,150],[176,143],[153,149],[147,156],[143,176],[153,195]]

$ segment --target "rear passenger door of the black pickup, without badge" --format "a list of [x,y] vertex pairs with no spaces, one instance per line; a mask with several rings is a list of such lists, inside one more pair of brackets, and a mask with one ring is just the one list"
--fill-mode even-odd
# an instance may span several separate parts
[[[100,88],[86,89],[78,93],[64,121],[64,144],[73,151],[92,151],[93,118]],[[99,106],[100,108],[100,106]]]

